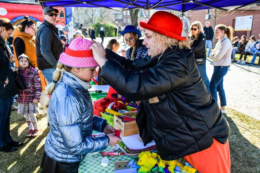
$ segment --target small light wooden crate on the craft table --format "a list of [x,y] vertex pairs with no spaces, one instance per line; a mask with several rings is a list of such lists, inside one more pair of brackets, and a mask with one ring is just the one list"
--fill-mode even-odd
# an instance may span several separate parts
[[[123,113],[126,116],[136,116],[137,111]],[[135,121],[122,122],[121,118],[114,115],[114,128],[121,131],[121,136],[129,136],[139,133],[137,124]]]

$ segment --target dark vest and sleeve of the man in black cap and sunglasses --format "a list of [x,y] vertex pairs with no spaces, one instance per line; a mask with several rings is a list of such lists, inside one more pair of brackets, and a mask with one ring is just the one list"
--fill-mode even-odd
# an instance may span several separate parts
[[36,33],[35,46],[38,68],[40,70],[55,68],[60,54],[63,52],[58,29],[43,20]]

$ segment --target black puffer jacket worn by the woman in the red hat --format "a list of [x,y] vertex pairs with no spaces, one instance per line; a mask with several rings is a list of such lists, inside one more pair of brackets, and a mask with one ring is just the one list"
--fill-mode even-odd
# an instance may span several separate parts
[[168,48],[162,56],[132,61],[106,51],[100,76],[118,94],[143,100],[136,116],[140,137],[144,145],[155,141],[162,160],[205,150],[213,138],[226,143],[229,125],[207,92],[190,49]]

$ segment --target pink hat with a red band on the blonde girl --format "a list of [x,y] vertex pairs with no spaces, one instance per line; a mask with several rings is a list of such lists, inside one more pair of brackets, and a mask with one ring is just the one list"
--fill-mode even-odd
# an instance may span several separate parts
[[74,68],[92,68],[98,66],[89,47],[92,42],[87,39],[76,38],[70,44],[66,44],[64,52],[60,54],[60,62]]

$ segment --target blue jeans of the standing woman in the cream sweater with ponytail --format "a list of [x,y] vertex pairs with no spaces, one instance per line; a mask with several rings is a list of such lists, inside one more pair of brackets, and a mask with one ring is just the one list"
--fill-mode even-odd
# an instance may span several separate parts
[[[214,66],[214,71],[209,83],[210,94],[218,101],[220,99],[220,106],[226,106],[226,95],[223,88],[223,78],[227,74],[228,66]],[[218,95],[217,95],[218,92]]]

